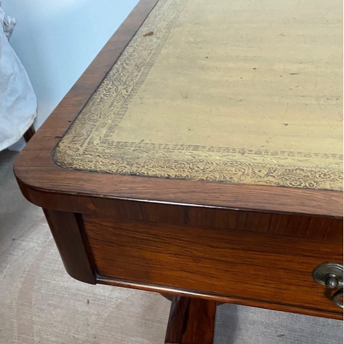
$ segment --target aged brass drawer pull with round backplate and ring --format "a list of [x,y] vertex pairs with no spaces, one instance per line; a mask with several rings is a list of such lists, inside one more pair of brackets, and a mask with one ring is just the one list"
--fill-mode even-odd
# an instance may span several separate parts
[[338,289],[332,296],[332,301],[343,308],[343,265],[324,263],[316,266],[312,272],[314,281],[327,289]]

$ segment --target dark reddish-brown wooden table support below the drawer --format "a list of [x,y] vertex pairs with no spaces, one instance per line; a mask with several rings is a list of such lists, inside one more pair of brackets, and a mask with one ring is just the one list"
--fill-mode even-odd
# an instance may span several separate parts
[[173,296],[165,344],[212,344],[216,301]]

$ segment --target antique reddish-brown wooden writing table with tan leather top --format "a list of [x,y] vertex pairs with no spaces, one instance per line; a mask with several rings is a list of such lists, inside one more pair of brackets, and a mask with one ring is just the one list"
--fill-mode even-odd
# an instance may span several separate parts
[[166,343],[217,302],[343,319],[338,15],[141,0],[14,166],[69,275],[173,295]]

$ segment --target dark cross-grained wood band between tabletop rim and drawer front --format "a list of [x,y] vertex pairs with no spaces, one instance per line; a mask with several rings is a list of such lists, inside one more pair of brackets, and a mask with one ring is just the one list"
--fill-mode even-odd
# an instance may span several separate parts
[[332,217],[234,211],[108,198],[78,197],[75,200],[77,202],[68,200],[66,195],[54,194],[45,203],[45,208],[53,208],[52,202],[57,202],[57,210],[61,212],[83,213],[121,222],[224,228],[283,237],[321,239],[333,243],[343,241],[343,220]]

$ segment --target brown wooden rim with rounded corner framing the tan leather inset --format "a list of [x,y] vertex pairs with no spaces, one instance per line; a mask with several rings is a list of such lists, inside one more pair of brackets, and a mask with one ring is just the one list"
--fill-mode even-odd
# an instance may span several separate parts
[[[140,0],[67,96],[19,154],[14,173],[30,202],[45,206],[47,192],[219,208],[343,216],[343,193],[279,186],[167,180],[69,171],[52,151],[158,0]],[[55,208],[54,205],[52,208]]]

